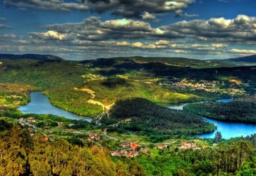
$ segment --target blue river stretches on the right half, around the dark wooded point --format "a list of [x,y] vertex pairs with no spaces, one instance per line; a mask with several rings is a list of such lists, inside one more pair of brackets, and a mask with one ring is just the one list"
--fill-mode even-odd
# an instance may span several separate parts
[[[217,102],[230,102],[232,101],[232,98],[226,98],[226,99],[220,99],[216,100]],[[207,102],[207,101],[204,101]],[[183,110],[183,107],[189,103],[181,103],[181,104],[165,104],[168,108],[171,109],[177,109],[177,110]],[[214,123],[214,125],[217,126],[217,130],[214,132],[210,132],[208,134],[200,134],[197,135],[202,138],[214,138],[214,134],[216,131],[220,131],[222,138],[229,139],[229,138],[235,138],[240,136],[247,136],[256,133],[256,125],[255,124],[249,124],[249,123],[240,123],[240,122],[224,122],[224,121],[218,121],[214,119],[205,118],[206,121],[209,121],[210,123]]]

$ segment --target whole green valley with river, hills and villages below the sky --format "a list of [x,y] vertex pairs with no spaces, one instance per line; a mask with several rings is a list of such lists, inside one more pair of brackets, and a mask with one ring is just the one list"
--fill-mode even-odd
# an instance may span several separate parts
[[[55,175],[118,175],[121,170],[126,175],[235,175],[255,170],[255,127],[250,124],[255,123],[255,69],[187,58],[1,59],[0,135],[6,136],[1,143],[11,149],[18,145],[13,140],[26,139],[19,142],[22,158],[27,158],[20,159],[19,173],[25,175],[28,164]],[[233,100],[214,101],[221,98]],[[184,110],[166,107],[170,104],[183,104]],[[80,120],[100,114],[100,119]],[[246,136],[225,135],[228,129],[214,136],[216,122],[202,116],[226,121],[225,128],[242,128],[243,123],[233,122],[247,122],[244,129],[251,130]],[[220,155],[229,159],[220,160]],[[65,160],[70,156],[75,157]],[[71,161],[88,167],[88,173]],[[18,161],[1,162],[7,167]],[[61,166],[56,169],[56,164]]]

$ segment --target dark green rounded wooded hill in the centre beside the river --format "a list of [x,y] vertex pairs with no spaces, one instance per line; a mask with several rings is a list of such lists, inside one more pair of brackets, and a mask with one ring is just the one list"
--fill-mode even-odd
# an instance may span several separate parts
[[165,134],[199,134],[214,131],[214,125],[205,122],[199,115],[172,110],[142,99],[118,100],[110,111],[110,117],[131,122],[123,123],[125,128]]

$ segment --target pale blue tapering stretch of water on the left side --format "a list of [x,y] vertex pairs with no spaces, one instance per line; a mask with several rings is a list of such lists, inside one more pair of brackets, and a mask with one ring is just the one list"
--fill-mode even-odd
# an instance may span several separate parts
[[[65,111],[63,109],[57,108],[56,106],[53,106],[49,102],[49,99],[47,98],[47,96],[42,95],[41,92],[30,93],[30,99],[31,101],[27,105],[19,107],[19,110],[22,111],[22,113],[24,114],[27,114],[27,113],[53,114],[53,115],[59,115],[61,117],[75,119],[75,120],[84,118],[81,115],[69,113],[68,111]],[[86,119],[86,121],[90,122],[92,121],[92,119]]]

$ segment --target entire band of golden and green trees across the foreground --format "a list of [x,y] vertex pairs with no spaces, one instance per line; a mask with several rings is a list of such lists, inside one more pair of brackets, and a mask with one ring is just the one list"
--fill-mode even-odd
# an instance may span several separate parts
[[[0,175],[255,175],[255,136],[201,150],[163,149],[156,156],[110,157],[105,147],[45,141],[0,121]],[[0,127],[1,127],[0,126]]]

